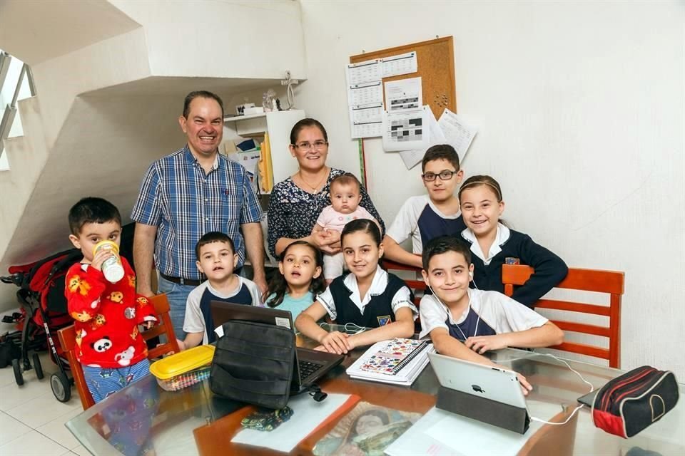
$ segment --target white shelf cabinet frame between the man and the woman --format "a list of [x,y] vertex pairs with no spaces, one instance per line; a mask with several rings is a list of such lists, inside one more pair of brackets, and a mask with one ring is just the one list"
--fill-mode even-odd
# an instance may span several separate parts
[[290,155],[290,130],[298,120],[305,118],[303,110],[275,111],[256,115],[240,115],[224,119],[225,140],[238,137],[264,140],[269,134],[273,183],[285,180],[298,171],[298,161]]

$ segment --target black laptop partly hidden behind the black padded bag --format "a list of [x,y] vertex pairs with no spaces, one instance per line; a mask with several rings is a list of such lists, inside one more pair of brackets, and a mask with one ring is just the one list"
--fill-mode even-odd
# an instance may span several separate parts
[[[216,327],[223,325],[226,321],[241,320],[283,326],[290,330],[294,328],[293,316],[289,311],[271,309],[270,307],[231,304],[223,301],[211,301],[209,309]],[[344,355],[302,347],[296,348],[291,390],[293,392],[300,391],[307,385],[315,383],[328,371],[342,363],[344,359]]]

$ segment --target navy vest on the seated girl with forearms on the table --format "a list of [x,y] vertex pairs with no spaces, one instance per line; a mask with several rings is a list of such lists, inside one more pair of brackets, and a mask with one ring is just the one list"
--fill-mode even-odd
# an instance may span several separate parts
[[[395,321],[395,314],[392,312],[392,298],[402,286],[406,286],[395,274],[387,274],[387,286],[381,294],[371,296],[371,301],[364,307],[364,314],[355,303],[350,299],[352,291],[345,286],[345,276],[335,278],[329,285],[330,294],[335,303],[335,313],[338,315],[335,322],[338,324],[355,323],[357,326],[366,328],[378,328],[391,321]],[[411,293],[411,290],[410,290]],[[412,302],[414,295],[411,295]]]

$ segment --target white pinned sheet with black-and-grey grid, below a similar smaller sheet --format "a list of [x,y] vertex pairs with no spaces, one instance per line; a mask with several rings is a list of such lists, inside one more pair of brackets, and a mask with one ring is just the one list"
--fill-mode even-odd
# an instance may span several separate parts
[[383,111],[383,149],[386,152],[400,150],[426,150],[430,133],[426,128],[430,109],[388,113]]

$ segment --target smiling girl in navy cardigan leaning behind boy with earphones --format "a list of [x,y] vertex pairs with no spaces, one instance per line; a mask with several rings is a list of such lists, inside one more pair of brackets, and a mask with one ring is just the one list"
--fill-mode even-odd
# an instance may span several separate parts
[[532,308],[566,277],[569,269],[561,258],[499,222],[504,201],[492,177],[469,177],[459,190],[459,202],[467,227],[460,239],[470,248],[474,264],[472,287],[504,293],[502,264],[527,264],[535,272],[514,289],[512,299]]

